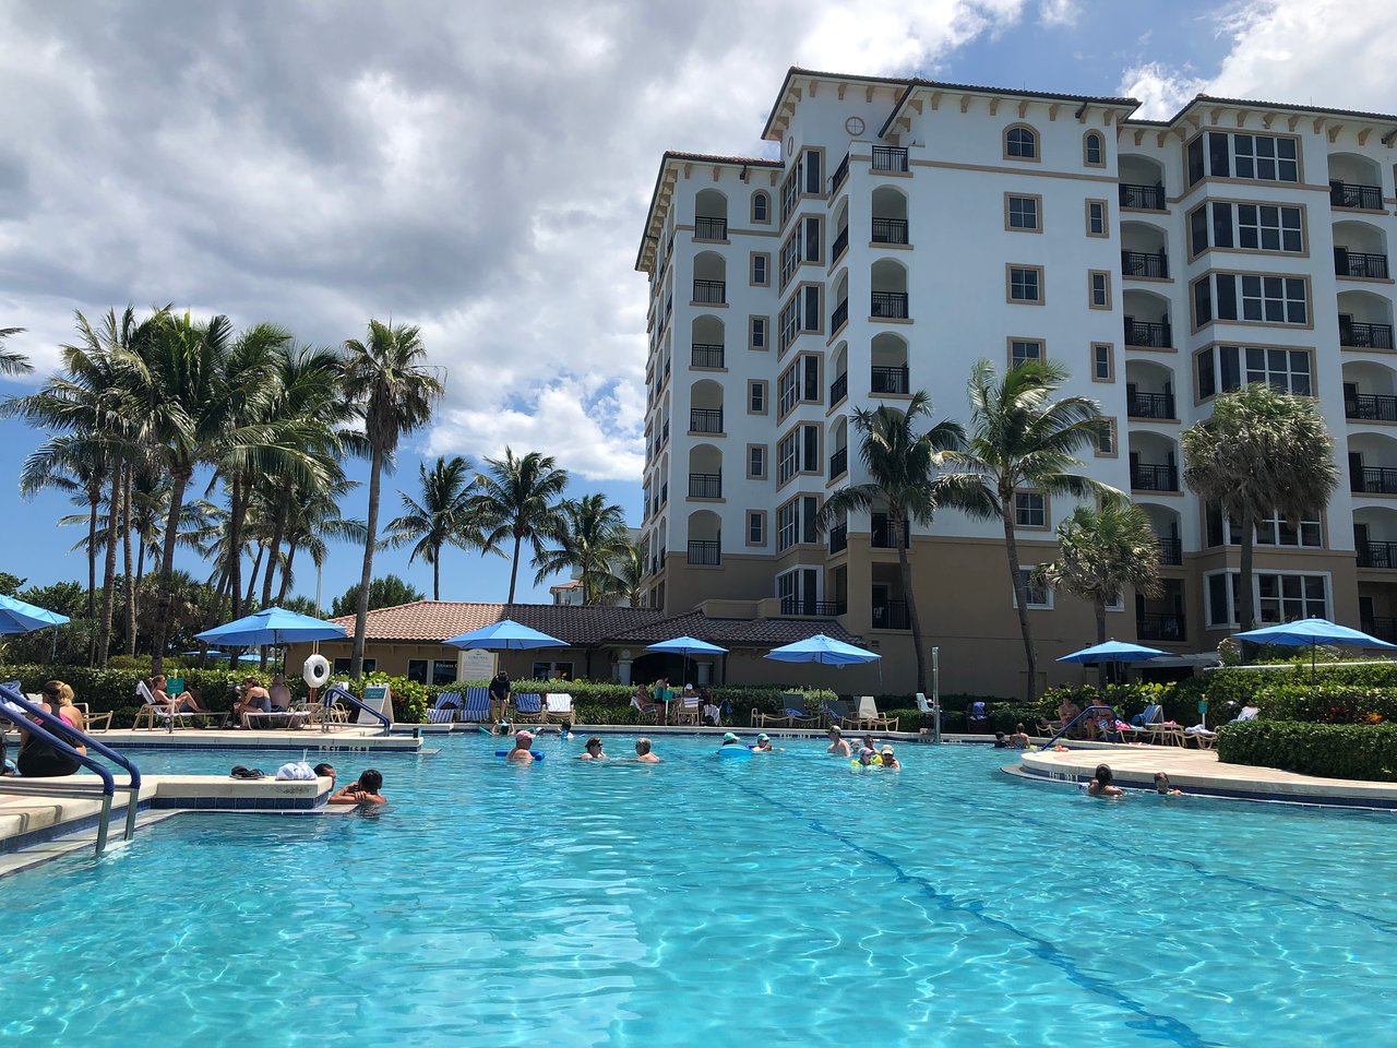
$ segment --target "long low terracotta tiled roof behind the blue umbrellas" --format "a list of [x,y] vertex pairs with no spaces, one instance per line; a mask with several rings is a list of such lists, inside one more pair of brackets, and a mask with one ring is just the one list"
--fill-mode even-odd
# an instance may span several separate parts
[[[834,619],[712,619],[697,611],[666,616],[657,608],[462,601],[414,601],[370,611],[366,636],[376,641],[441,641],[500,619],[514,619],[573,646],[604,641],[654,644],[690,636],[724,647],[777,647],[816,633],[826,633],[849,644],[862,643]],[[331,622],[353,632],[353,615],[342,615]]]

